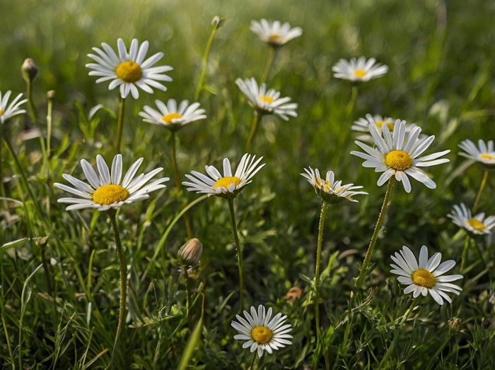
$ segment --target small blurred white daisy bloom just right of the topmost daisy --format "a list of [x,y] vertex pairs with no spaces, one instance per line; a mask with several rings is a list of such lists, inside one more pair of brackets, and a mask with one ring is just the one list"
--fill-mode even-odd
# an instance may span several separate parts
[[375,61],[375,58],[366,60],[364,56],[360,56],[359,59],[351,58],[350,61],[340,59],[332,67],[334,78],[342,78],[342,80],[353,82],[366,82],[372,78],[385,75],[388,72],[388,66],[375,64]]

